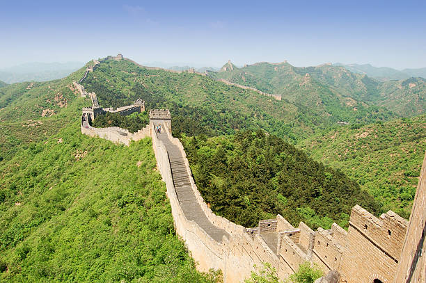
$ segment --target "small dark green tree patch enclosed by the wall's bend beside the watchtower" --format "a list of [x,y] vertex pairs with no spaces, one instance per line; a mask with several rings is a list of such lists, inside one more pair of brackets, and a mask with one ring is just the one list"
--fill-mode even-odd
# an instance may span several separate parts
[[92,126],[95,128],[120,127],[134,133],[139,131],[150,122],[149,112],[132,113],[123,116],[118,113],[107,112],[104,115],[97,115]]

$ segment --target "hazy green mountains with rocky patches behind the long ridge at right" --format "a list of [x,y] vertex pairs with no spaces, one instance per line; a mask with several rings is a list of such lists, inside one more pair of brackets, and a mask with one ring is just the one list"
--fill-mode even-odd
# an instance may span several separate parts
[[[360,111],[362,115],[369,115],[377,111],[377,107],[386,107],[400,116],[420,115],[426,110],[425,79],[421,78],[380,82],[331,64],[294,67],[286,62],[255,63],[239,70],[210,72],[210,75],[281,95],[289,102],[297,102],[342,122],[354,122]],[[416,81],[416,88],[413,84],[409,87],[411,80]],[[392,115],[388,113],[388,117]]]

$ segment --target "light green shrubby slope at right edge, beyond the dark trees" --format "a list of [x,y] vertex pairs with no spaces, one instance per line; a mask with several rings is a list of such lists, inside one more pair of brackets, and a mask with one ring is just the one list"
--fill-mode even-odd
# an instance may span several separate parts
[[305,140],[315,160],[345,172],[384,204],[409,217],[426,150],[426,117],[342,127]]

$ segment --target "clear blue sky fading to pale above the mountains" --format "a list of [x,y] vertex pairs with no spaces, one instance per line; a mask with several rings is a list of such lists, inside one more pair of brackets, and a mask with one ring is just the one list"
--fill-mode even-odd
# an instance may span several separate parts
[[86,62],[426,67],[426,1],[0,1],[0,68]]

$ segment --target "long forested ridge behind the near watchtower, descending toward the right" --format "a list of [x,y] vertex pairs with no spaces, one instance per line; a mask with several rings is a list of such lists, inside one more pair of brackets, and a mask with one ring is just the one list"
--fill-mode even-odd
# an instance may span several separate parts
[[319,129],[337,127],[337,122],[348,115],[350,122],[358,123],[394,116],[383,108],[363,105],[358,111],[349,107],[338,110],[339,115],[330,115],[299,101],[276,101],[206,76],[149,70],[127,60],[102,62],[83,84],[86,90],[97,93],[102,106],[123,106],[141,98],[148,109],[171,109],[176,135],[216,136],[261,128],[297,143]]

